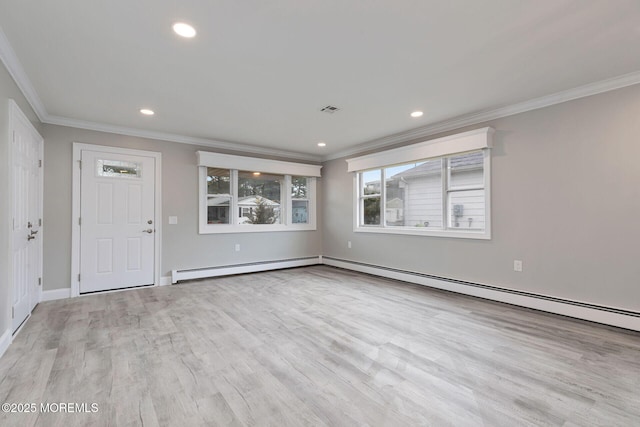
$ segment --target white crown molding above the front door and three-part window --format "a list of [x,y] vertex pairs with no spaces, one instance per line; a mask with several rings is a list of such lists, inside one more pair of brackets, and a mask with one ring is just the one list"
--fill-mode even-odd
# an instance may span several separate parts
[[211,147],[221,150],[229,150],[239,153],[259,154],[263,156],[283,157],[287,159],[306,160],[310,162],[319,163],[322,161],[320,156],[314,156],[311,154],[298,153],[295,151],[278,150],[274,148],[258,147],[255,145],[219,141],[207,138],[196,138],[185,135],[177,135],[166,132],[156,132],[150,130],[136,129],[124,126],[115,126],[105,123],[91,122],[87,120],[70,119],[68,117],[47,115],[43,123],[59,126],[67,126],[77,129],[93,130],[97,132],[115,133],[119,135],[135,136],[138,138],[155,139],[159,141],[176,142],[179,144],[198,145],[202,147]]

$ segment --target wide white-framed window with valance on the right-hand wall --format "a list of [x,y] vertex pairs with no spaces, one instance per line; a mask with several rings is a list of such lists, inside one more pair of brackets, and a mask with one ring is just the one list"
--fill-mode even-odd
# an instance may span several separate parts
[[490,147],[484,128],[347,160],[355,231],[491,238]]

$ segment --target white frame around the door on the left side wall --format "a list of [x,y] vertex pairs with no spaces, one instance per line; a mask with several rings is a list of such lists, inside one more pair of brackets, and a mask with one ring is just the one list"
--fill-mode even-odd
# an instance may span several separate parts
[[[37,131],[37,129],[33,126],[33,124],[31,123],[31,121],[27,118],[27,116],[25,116],[25,114],[22,112],[22,110],[20,109],[20,107],[18,106],[18,104],[13,100],[13,99],[9,99],[9,127],[8,127],[8,131],[9,131],[9,135],[8,135],[8,141],[9,141],[9,150],[8,150],[8,156],[7,156],[7,163],[6,163],[6,167],[8,168],[8,171],[12,171],[13,170],[13,132],[15,130],[15,124],[16,122],[21,121],[25,124],[25,126],[29,129],[29,131],[32,134],[32,137],[34,139],[36,139],[38,141],[39,144],[39,150],[38,150],[38,158],[40,160],[40,168],[39,168],[39,172],[38,172],[38,186],[39,186],[39,190],[38,190],[38,211],[39,211],[39,218],[43,220],[44,222],[44,216],[43,216],[43,211],[44,211],[44,173],[43,173],[43,158],[44,158],[44,139],[42,138],[42,135],[40,135],[40,133]],[[13,216],[13,200],[14,200],[14,177],[13,177],[13,173],[9,172],[9,206],[10,206],[10,215],[11,217]],[[9,246],[9,259],[8,259],[8,267],[9,267],[9,308],[13,308],[13,292],[14,292],[14,283],[13,283],[13,223],[11,223],[10,227],[9,227],[9,239],[8,240],[8,246]],[[36,245],[38,245],[38,251],[39,251],[39,260],[38,260],[38,273],[39,273],[39,277],[42,278],[42,264],[43,264],[43,245],[42,245],[42,241],[43,241],[43,234],[44,234],[44,223],[42,225],[38,226],[38,237],[36,238],[37,242],[35,243]],[[35,295],[32,295],[31,292],[35,291]],[[31,313],[31,311],[34,309],[34,307],[36,306],[37,303],[39,303],[40,301],[42,301],[42,282],[38,283],[38,285],[36,285],[36,287],[30,287],[29,288],[29,313]],[[31,316],[31,314],[29,314],[29,316]],[[29,317],[27,317],[28,319]],[[26,323],[26,319],[25,321],[22,323],[22,325],[24,325]],[[20,326],[20,328],[22,328],[22,326]],[[13,329],[13,319],[12,319],[12,326],[10,329]],[[18,329],[19,330],[19,329]],[[15,335],[18,330],[16,331],[12,331],[13,334]]]

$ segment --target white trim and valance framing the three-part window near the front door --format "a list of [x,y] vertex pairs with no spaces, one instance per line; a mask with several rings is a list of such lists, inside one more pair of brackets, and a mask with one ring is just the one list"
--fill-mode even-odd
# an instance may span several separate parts
[[[258,159],[251,157],[232,156],[228,154],[209,153],[198,151],[198,233],[199,234],[223,234],[223,233],[260,233],[278,231],[313,231],[317,229],[316,195],[317,177],[320,176],[320,165],[308,165],[302,163],[281,162],[277,160]],[[230,224],[207,223],[207,168],[216,167],[231,171],[231,204],[229,206]],[[284,176],[281,197],[280,224],[252,224],[241,225],[237,223],[238,211],[238,171],[249,170],[262,173],[273,173]],[[308,186],[308,223],[293,223],[291,176],[304,176]]]

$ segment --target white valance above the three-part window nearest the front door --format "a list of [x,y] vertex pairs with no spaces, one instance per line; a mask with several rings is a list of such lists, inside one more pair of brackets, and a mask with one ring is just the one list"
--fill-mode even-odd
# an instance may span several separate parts
[[256,157],[233,156],[231,154],[198,151],[198,166],[212,168],[238,169],[281,175],[320,177],[320,165],[283,162],[280,160],[259,159]]

